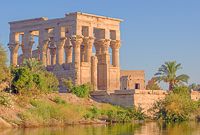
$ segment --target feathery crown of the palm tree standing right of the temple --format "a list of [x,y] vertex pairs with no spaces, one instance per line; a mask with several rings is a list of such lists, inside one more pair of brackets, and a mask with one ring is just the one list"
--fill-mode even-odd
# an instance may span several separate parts
[[180,69],[182,69],[181,64],[177,64],[176,61],[165,62],[165,64],[163,64],[155,74],[156,79],[159,82],[164,81],[169,83],[169,90],[172,90],[174,86],[188,82],[188,75],[176,75],[177,71]]

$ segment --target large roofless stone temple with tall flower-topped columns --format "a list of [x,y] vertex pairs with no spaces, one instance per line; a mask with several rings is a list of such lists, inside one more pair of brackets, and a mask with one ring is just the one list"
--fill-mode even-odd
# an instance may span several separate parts
[[118,90],[121,21],[76,12],[58,19],[10,22],[11,64],[36,58],[59,79],[91,83],[95,90]]

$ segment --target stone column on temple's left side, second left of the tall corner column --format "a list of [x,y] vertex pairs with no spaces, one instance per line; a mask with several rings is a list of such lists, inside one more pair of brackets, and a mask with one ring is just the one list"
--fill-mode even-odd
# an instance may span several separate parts
[[56,51],[56,64],[62,65],[64,61],[64,45],[65,45],[66,38],[62,37],[59,41],[56,42],[57,44],[57,51]]

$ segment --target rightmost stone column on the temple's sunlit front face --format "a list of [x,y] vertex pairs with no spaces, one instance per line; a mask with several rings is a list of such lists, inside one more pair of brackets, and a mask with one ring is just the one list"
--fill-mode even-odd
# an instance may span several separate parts
[[119,48],[121,46],[120,40],[112,40],[111,48],[112,48],[112,65],[114,67],[119,67]]

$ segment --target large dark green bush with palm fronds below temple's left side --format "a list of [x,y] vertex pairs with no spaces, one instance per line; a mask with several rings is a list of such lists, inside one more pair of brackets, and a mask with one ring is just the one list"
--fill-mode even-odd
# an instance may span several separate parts
[[53,73],[44,70],[37,62],[34,64],[32,60],[30,64],[26,61],[26,64],[11,70],[13,92],[35,95],[58,91],[59,82]]

